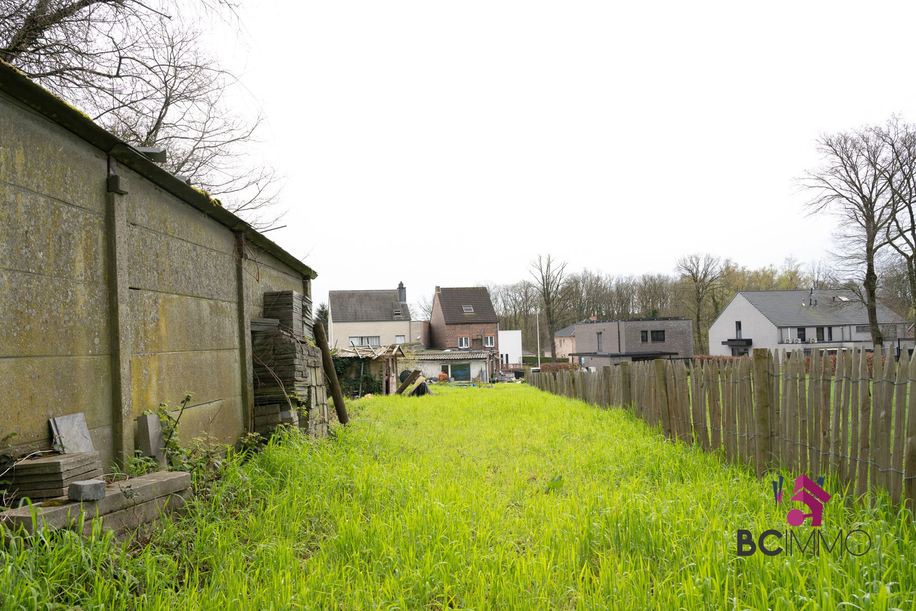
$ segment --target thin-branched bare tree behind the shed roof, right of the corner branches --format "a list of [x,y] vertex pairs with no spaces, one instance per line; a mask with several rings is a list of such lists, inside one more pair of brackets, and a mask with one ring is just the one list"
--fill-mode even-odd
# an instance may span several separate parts
[[143,40],[146,76],[136,99],[104,110],[100,122],[126,142],[165,148],[165,169],[257,228],[276,224],[282,179],[250,154],[262,117],[239,116],[224,103],[232,74],[207,55],[198,30],[159,19]]

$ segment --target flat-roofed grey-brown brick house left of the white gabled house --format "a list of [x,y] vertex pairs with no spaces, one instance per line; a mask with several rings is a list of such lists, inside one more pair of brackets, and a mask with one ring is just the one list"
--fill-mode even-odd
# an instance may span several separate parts
[[575,348],[571,356],[585,367],[692,358],[693,323],[682,317],[576,322]]

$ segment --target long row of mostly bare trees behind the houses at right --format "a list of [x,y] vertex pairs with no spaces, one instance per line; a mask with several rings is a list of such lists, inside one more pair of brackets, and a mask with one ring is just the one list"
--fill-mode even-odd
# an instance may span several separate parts
[[693,322],[694,348],[708,352],[708,328],[739,290],[825,289],[852,291],[868,313],[872,342],[886,341],[878,324],[878,300],[916,321],[916,125],[893,116],[883,125],[824,134],[816,141],[821,164],[799,181],[810,194],[809,214],[837,218],[836,248],[829,265],[804,267],[788,259],[779,268],[750,269],[709,254],[682,256],[674,273],[613,276],[567,271],[539,256],[531,279],[493,287],[504,328],[520,328],[525,345],[541,344],[563,326],[589,316],[683,316]]

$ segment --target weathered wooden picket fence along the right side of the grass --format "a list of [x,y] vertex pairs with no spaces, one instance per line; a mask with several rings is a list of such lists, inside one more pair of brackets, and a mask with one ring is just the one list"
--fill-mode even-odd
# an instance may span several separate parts
[[864,351],[755,349],[753,359],[656,360],[597,372],[529,375],[529,384],[600,406],[632,409],[666,438],[721,450],[763,477],[770,469],[830,472],[856,496],[889,492],[894,504],[916,504],[916,358],[876,356],[869,375]]

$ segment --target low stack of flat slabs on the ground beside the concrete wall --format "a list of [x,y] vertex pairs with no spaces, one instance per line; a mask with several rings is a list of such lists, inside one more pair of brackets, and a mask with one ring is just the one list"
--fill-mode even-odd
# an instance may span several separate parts
[[99,453],[77,452],[29,458],[15,464],[3,477],[3,492],[16,498],[65,496],[73,482],[102,475]]

